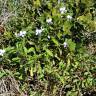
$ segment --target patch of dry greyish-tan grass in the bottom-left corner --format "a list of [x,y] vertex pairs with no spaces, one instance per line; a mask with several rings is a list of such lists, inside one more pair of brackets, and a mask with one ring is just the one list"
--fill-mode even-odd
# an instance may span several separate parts
[[17,81],[6,76],[0,80],[0,96],[21,96]]

